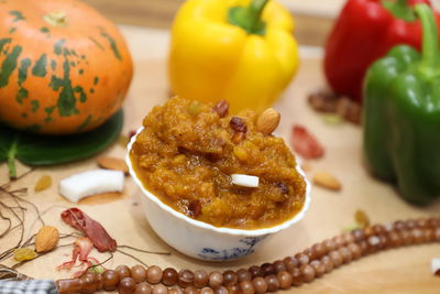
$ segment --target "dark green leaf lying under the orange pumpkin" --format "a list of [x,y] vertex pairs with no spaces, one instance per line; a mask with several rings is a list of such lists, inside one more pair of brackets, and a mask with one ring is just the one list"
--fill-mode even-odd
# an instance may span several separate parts
[[72,135],[33,134],[0,126],[0,162],[8,160],[10,163],[18,159],[24,164],[37,166],[90,157],[118,139],[122,124],[123,113],[120,110],[98,129]]

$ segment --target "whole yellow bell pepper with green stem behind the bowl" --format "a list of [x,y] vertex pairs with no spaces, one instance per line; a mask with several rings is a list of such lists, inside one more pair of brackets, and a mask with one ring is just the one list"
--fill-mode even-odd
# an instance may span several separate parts
[[173,24],[168,74],[175,95],[227,99],[230,110],[273,105],[298,66],[294,20],[272,0],[188,0]]

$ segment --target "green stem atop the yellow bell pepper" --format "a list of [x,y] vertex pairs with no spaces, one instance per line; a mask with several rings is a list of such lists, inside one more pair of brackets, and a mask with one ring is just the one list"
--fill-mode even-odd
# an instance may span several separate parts
[[270,0],[252,0],[248,7],[229,9],[229,23],[238,25],[249,34],[264,34],[265,23],[262,21],[264,8]]

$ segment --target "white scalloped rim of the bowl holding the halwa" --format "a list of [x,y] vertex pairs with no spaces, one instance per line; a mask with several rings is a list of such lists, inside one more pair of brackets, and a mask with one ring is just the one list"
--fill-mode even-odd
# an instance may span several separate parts
[[299,165],[299,159],[296,157],[296,166],[295,170],[302,176],[304,181],[306,182],[306,195],[305,195],[305,202],[302,205],[302,208],[290,219],[285,220],[284,222],[276,225],[274,227],[268,227],[268,228],[261,228],[261,229],[251,229],[251,230],[244,230],[244,229],[232,229],[232,228],[224,228],[224,227],[216,227],[212,226],[208,222],[204,222],[200,220],[193,219],[190,217],[187,217],[186,215],[175,210],[170,206],[164,204],[157,196],[155,196],[153,193],[147,190],[143,183],[139,179],[136,173],[134,172],[134,168],[132,166],[131,160],[130,160],[130,151],[133,146],[133,143],[135,142],[138,135],[144,127],[141,127],[136,130],[135,134],[131,138],[129,144],[127,145],[127,155],[125,155],[125,163],[129,167],[130,175],[136,183],[136,185],[141,188],[143,194],[150,198],[152,202],[157,204],[163,210],[167,211],[168,214],[172,214],[174,217],[182,219],[186,222],[189,222],[193,226],[196,226],[198,228],[204,228],[210,231],[215,232],[220,232],[220,233],[227,233],[227,235],[232,235],[232,236],[244,236],[244,237],[257,237],[257,236],[265,236],[265,235],[271,235],[278,232],[280,230],[287,229],[292,225],[298,222],[301,220],[308,210],[311,202],[311,196],[310,196],[310,190],[311,190],[311,185],[310,182],[307,179],[306,174],[304,173],[302,168]]

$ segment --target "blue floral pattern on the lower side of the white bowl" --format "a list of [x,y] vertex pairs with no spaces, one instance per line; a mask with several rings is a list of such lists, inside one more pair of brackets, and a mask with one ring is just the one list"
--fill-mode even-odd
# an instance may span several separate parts
[[231,249],[216,250],[212,248],[204,248],[198,254],[199,258],[206,260],[226,261],[234,260],[254,252],[255,246],[264,240],[267,236],[261,237],[244,237],[239,242],[243,243],[242,247],[234,247]]

